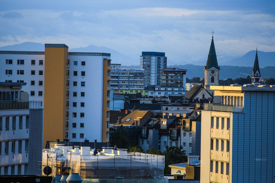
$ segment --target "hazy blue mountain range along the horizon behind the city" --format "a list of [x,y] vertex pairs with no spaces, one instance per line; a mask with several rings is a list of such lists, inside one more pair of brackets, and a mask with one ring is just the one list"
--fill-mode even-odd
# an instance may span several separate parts
[[[34,42],[24,42],[21,44],[15,44],[10,46],[0,47],[0,50],[3,51],[44,51],[45,45],[41,43]],[[80,48],[69,48],[70,52],[103,52],[111,53],[112,63],[122,64],[124,68],[140,68],[140,66],[129,66],[129,63],[137,63],[140,58],[131,58],[126,56],[114,49],[106,47],[98,47],[90,45],[87,47]],[[254,65],[256,50],[249,51],[241,57],[218,57],[218,64],[221,68],[219,79],[226,78],[246,78],[248,75],[252,74],[252,69]],[[261,70],[262,77],[266,78],[275,78],[275,52],[263,52],[258,51],[259,65]],[[187,77],[204,77],[204,66],[206,64],[206,59],[197,60],[192,62],[194,65],[185,64],[185,65],[174,65],[169,67],[178,67],[182,69],[187,69]],[[169,58],[168,58],[169,60]]]

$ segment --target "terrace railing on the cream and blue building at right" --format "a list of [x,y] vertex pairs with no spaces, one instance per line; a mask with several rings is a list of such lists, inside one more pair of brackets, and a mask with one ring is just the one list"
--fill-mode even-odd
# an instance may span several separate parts
[[224,111],[224,112],[243,112],[243,107],[236,107],[233,105],[205,103],[203,106],[203,110]]

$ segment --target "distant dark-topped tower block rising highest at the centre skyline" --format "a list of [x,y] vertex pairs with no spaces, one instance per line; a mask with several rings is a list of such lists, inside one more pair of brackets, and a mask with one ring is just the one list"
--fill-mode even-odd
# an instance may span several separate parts
[[167,68],[167,57],[165,53],[143,51],[140,65],[141,68],[145,70],[145,86],[160,85],[160,70]]

